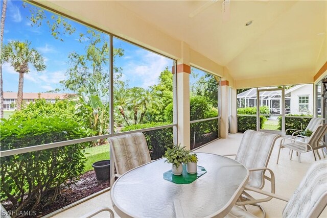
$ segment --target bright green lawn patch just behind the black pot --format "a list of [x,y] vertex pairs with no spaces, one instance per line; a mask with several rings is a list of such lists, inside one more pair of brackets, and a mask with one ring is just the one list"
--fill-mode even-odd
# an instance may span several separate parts
[[86,163],[84,164],[84,173],[91,171],[93,169],[92,163],[99,160],[109,160],[109,144],[104,144],[103,146],[91,147],[85,149]]

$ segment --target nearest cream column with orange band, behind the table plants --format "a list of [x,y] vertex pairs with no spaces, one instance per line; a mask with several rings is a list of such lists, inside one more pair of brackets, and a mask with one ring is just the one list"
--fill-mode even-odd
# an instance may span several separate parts
[[190,51],[182,42],[182,59],[177,61],[177,141],[190,150]]

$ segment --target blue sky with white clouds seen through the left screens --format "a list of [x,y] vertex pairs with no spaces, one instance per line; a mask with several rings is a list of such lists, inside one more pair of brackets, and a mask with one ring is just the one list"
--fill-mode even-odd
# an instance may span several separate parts
[[[2,5],[2,4],[1,4]],[[52,13],[45,12],[47,17]],[[78,41],[79,34],[85,33],[87,27],[69,20],[69,23],[76,28],[72,35],[63,35],[64,41],[60,41],[51,36],[48,25],[45,22],[40,27],[32,27],[27,18],[30,16],[28,8],[22,7],[22,1],[8,1],[4,44],[12,40],[31,42],[31,47],[38,50],[45,58],[46,69],[37,72],[30,65],[30,72],[24,76],[24,92],[44,92],[55,88],[63,88],[59,81],[66,78],[65,72],[69,68],[68,54],[76,51],[84,54],[85,45]],[[109,41],[109,36],[103,34]],[[135,45],[114,38],[114,47],[122,47],[124,56],[117,58],[116,66],[123,68],[123,79],[129,81],[129,86],[141,86],[147,88],[157,83],[160,72],[169,67],[171,69],[173,61],[164,56],[160,56],[141,49]],[[3,64],[4,91],[14,91],[18,89],[18,73],[14,71],[10,64]],[[67,92],[64,90],[63,92]]]

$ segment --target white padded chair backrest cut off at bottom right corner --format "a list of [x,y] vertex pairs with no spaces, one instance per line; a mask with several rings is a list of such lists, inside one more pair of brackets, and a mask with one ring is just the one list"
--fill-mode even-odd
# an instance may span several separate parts
[[314,162],[283,210],[283,217],[318,217],[327,204],[327,160]]

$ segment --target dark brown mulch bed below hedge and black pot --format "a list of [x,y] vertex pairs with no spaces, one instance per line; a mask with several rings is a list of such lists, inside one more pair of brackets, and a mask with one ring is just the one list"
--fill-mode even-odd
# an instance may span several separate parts
[[[39,204],[40,206],[36,208],[36,217],[44,216],[64,206],[72,204],[82,198],[88,197],[93,193],[108,188],[109,186],[110,186],[109,180],[98,181],[94,171],[86,172],[85,174],[81,175],[80,179],[75,184],[72,184],[71,187],[68,187],[67,185],[62,185],[60,187],[60,191],[58,193],[57,199],[54,203],[42,208],[43,204],[41,202]],[[50,191],[49,196],[51,195],[52,193]],[[2,203],[4,204],[5,208],[9,206],[9,205],[5,205],[7,202],[2,202]]]

